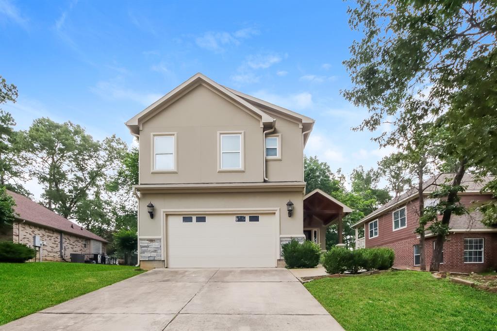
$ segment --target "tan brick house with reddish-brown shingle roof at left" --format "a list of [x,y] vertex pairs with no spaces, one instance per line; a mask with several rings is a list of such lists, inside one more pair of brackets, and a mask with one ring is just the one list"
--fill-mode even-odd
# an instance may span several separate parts
[[[23,195],[7,190],[15,200],[15,221],[0,232],[0,241],[33,247],[33,236],[43,242],[43,261],[70,259],[71,253],[105,253],[107,241]],[[36,258],[39,260],[39,250]]]

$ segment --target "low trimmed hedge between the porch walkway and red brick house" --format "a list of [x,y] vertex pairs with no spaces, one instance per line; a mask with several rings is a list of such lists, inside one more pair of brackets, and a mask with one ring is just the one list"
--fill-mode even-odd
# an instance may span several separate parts
[[323,257],[323,266],[330,274],[357,273],[360,269],[386,270],[394,265],[395,254],[390,248],[331,248]]

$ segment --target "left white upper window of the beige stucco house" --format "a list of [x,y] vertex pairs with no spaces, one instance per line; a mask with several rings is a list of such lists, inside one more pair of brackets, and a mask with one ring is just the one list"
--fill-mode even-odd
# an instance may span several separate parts
[[176,133],[155,133],[152,137],[154,151],[152,170],[176,171]]

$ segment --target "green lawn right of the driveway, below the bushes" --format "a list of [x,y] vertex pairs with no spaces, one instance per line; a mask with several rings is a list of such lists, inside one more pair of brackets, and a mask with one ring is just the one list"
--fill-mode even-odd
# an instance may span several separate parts
[[324,278],[305,287],[347,331],[497,330],[497,294],[428,272]]

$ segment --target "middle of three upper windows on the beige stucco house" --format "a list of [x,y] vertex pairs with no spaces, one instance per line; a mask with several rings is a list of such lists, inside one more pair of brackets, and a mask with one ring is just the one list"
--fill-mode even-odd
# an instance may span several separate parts
[[244,133],[219,133],[218,171],[244,171]]

